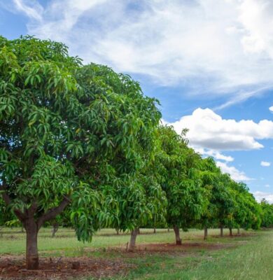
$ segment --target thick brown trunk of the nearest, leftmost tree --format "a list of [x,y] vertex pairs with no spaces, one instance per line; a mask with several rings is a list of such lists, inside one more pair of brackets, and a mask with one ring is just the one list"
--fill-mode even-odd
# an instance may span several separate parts
[[26,254],[26,264],[27,269],[38,269],[39,259],[38,259],[38,227],[34,221],[34,218],[29,218],[25,221],[25,229],[27,232],[27,254]]

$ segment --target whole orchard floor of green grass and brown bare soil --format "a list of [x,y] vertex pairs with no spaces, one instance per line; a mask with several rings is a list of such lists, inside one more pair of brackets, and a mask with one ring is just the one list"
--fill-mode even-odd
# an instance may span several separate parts
[[[141,229],[134,253],[126,251],[128,233],[101,230],[92,243],[76,240],[73,230],[59,229],[50,237],[43,228],[38,238],[40,269],[25,269],[25,233],[0,230],[0,280],[3,279],[273,279],[273,230],[244,231],[219,237],[209,230],[181,232],[182,246],[174,245],[172,230]],[[72,265],[80,264],[78,269]]]

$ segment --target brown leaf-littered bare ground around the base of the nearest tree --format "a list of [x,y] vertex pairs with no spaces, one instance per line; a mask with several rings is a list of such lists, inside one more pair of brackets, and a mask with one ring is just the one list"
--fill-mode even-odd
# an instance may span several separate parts
[[[72,266],[80,264],[78,269]],[[0,280],[57,280],[80,279],[83,276],[93,276],[96,279],[102,276],[127,274],[134,267],[122,260],[105,260],[102,258],[40,258],[38,270],[25,269],[23,256],[3,255],[0,258]]]

